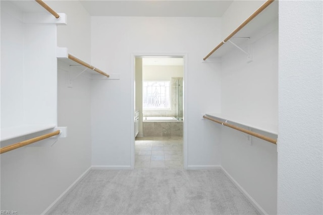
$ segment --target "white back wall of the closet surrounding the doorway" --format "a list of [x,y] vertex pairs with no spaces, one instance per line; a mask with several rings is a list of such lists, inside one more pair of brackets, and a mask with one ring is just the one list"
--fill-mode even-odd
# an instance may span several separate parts
[[93,81],[93,165],[130,168],[134,110],[131,56],[147,53],[187,53],[184,141],[188,165],[220,164],[218,133],[210,132],[201,120],[202,113],[220,111],[219,65],[201,63],[220,37],[220,27],[221,20],[216,18],[92,17],[93,64],[120,74],[120,80]]

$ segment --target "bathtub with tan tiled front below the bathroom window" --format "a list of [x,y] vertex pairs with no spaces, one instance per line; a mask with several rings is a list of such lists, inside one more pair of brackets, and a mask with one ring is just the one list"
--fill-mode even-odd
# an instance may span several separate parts
[[143,117],[144,137],[182,137],[183,121],[175,117]]

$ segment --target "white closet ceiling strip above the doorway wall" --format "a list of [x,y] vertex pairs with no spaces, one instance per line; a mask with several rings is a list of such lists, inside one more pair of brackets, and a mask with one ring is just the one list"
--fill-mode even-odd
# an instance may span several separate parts
[[90,16],[222,17],[232,0],[81,0]]

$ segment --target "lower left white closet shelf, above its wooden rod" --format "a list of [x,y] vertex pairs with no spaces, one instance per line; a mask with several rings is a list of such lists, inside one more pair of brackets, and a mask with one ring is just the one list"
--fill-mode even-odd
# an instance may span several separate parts
[[40,131],[56,128],[56,125],[21,125],[11,128],[1,129],[1,141],[13,139],[16,137],[33,134]]

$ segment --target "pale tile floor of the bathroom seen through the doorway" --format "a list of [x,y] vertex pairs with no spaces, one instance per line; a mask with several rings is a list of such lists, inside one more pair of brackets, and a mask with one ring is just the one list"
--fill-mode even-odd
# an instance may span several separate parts
[[136,137],[135,169],[183,168],[182,137]]

